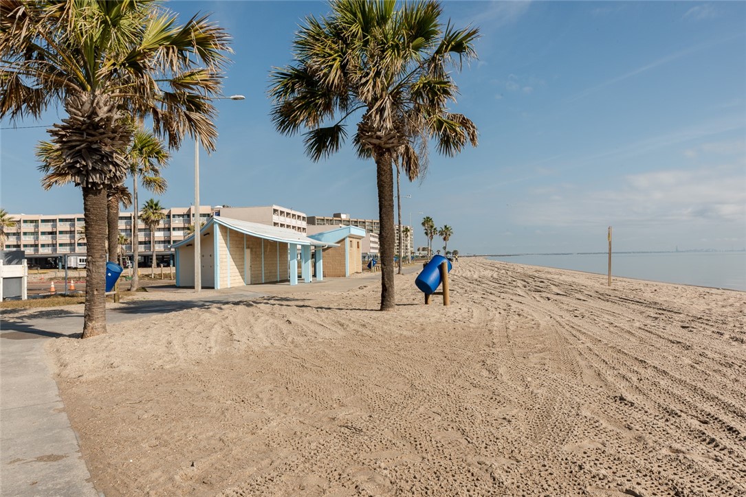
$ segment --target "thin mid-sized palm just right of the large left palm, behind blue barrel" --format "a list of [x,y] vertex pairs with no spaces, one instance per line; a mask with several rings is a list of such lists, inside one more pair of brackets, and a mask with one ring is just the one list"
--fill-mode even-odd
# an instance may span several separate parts
[[166,179],[160,175],[160,168],[165,166],[170,158],[169,152],[163,146],[163,142],[157,139],[153,133],[138,127],[134,140],[128,151],[130,163],[129,174],[132,177],[132,280],[130,291],[137,291],[140,285],[138,266],[140,265],[140,233],[137,227],[140,225],[137,204],[137,180],[140,179],[145,189],[154,194],[163,194],[166,191]]

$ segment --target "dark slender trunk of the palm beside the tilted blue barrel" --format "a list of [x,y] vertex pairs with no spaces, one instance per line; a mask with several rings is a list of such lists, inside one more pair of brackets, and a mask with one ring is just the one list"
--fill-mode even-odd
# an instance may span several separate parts
[[375,157],[376,183],[378,187],[378,219],[380,220],[380,310],[396,308],[394,294],[394,174],[390,151]]

